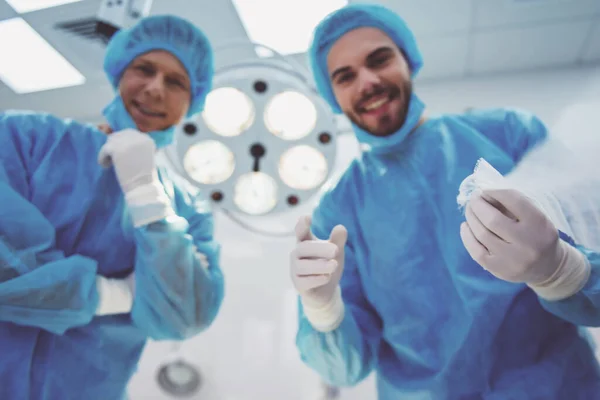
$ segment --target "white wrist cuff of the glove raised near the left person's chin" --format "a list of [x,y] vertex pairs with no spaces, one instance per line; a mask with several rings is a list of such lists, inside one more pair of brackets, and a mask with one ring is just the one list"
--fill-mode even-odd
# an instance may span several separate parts
[[125,193],[133,226],[136,228],[175,215],[160,182],[139,186]]

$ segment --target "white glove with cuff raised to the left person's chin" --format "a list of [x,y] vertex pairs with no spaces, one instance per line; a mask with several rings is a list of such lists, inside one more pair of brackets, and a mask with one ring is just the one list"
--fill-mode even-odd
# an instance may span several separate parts
[[110,134],[98,154],[101,166],[114,167],[136,227],[175,214],[158,179],[155,156],[154,140],[134,129]]

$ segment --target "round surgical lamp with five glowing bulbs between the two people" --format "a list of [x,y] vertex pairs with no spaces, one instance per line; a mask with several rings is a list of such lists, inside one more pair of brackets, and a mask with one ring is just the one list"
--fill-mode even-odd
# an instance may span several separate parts
[[215,46],[204,111],[177,130],[165,152],[169,163],[230,216],[264,216],[307,203],[333,169],[333,113],[303,67],[273,49],[267,49],[270,58],[252,48],[233,59],[220,57],[222,49]]

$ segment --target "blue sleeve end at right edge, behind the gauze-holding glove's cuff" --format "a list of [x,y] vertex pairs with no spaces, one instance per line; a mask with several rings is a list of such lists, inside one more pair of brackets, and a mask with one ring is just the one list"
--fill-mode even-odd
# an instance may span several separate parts
[[540,298],[542,306],[552,314],[576,325],[600,327],[600,254],[577,247],[591,265],[586,285],[573,296],[560,301]]

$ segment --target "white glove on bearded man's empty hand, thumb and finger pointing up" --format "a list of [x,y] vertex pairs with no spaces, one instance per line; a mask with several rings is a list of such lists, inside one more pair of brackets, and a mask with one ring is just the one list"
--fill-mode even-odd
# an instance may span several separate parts
[[329,240],[318,240],[310,232],[310,224],[310,217],[302,217],[296,224],[297,245],[290,257],[291,275],[306,318],[316,330],[328,332],[344,318],[339,282],[344,271],[348,232],[338,225]]

